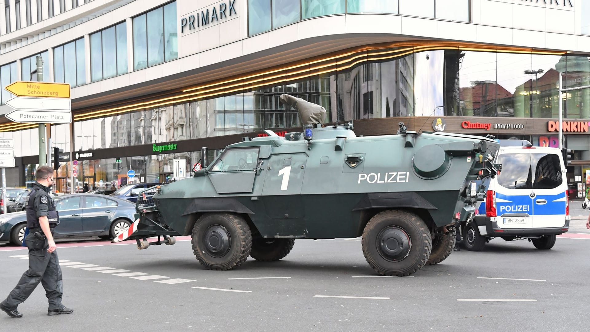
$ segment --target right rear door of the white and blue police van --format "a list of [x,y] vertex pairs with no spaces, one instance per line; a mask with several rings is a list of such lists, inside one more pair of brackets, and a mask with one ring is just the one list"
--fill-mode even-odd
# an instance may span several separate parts
[[566,181],[563,160],[555,151],[537,148],[530,152],[533,170],[533,227],[562,227],[565,224]]

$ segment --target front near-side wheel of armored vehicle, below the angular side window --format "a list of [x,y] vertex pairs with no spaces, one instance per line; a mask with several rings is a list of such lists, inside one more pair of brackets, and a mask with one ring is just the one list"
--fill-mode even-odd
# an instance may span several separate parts
[[231,270],[250,255],[252,233],[244,218],[231,213],[204,214],[192,229],[196,259],[210,270]]

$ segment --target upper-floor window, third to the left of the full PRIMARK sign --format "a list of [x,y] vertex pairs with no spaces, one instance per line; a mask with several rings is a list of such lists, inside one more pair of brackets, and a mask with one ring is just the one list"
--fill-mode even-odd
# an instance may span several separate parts
[[84,61],[84,38],[55,47],[53,49],[54,82],[69,83],[71,87],[86,83]]

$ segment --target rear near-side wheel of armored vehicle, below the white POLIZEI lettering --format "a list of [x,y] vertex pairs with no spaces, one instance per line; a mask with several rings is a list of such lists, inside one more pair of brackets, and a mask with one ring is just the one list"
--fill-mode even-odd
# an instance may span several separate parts
[[366,261],[381,275],[407,276],[425,265],[430,257],[430,231],[420,217],[403,210],[382,211],[363,230]]

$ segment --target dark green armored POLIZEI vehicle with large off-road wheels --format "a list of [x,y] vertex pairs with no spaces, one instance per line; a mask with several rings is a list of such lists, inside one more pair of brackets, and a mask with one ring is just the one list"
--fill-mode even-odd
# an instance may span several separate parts
[[193,177],[143,191],[139,220],[114,241],[146,249],[191,235],[196,258],[215,270],[284,258],[296,239],[362,236],[369,265],[391,276],[450,255],[455,223],[473,217],[499,171],[496,141],[403,123],[396,135],[359,137],[351,123],[323,126],[321,106],[281,100],[299,111],[303,132],[244,138]]

